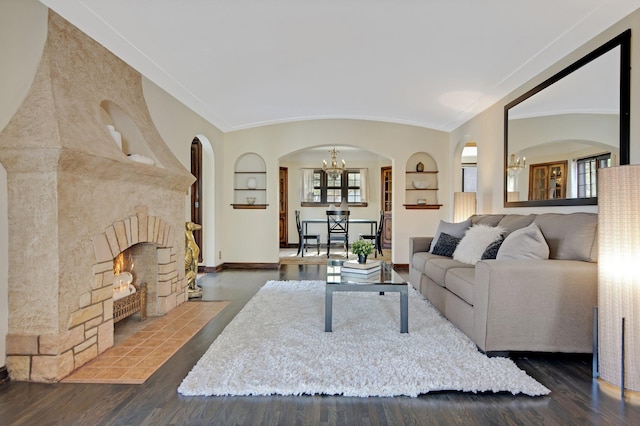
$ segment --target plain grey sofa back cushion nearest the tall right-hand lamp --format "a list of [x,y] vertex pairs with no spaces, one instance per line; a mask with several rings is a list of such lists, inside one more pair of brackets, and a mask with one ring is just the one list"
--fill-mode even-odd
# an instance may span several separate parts
[[549,258],[598,260],[598,215],[595,213],[544,213],[535,221],[549,244]]

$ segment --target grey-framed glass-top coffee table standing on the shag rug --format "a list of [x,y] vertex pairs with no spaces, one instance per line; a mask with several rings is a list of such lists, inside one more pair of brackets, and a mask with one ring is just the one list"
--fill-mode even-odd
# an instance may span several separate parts
[[379,270],[372,274],[347,273],[342,269],[344,261],[327,262],[327,287],[324,303],[324,331],[331,331],[333,293],[336,291],[400,293],[400,333],[409,332],[409,287],[391,265],[380,262]]

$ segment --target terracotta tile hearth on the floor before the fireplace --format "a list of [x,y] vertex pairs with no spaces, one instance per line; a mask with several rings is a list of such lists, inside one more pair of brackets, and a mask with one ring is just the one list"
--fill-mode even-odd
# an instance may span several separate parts
[[183,303],[127,337],[93,361],[80,367],[63,383],[141,384],[182,345],[229,304],[226,301]]

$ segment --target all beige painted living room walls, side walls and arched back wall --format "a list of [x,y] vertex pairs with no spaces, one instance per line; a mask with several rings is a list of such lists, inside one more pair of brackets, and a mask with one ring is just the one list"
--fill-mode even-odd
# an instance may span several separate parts
[[[16,17],[20,17],[16,19]],[[35,74],[46,37],[47,10],[36,1],[4,0],[0,3],[0,129],[14,114],[26,95]],[[640,13],[583,46],[528,84],[499,101],[493,107],[460,126],[450,134],[413,126],[357,120],[319,120],[265,126],[231,132],[226,135],[186,108],[150,81],[144,82],[144,95],[150,114],[163,139],[189,168],[189,146],[194,136],[204,136],[211,145],[207,154],[205,208],[206,242],[203,247],[205,264],[222,262],[277,262],[278,209],[277,170],[280,158],[289,152],[326,144],[362,147],[391,160],[394,168],[394,262],[408,262],[408,238],[429,235],[440,219],[449,220],[452,212],[452,192],[459,185],[459,158],[464,143],[478,144],[478,183],[480,212],[541,213],[544,211],[596,211],[592,207],[573,208],[503,208],[503,106],[526,90],[551,76],[561,68],[626,28],[640,31]],[[638,81],[640,41],[632,38],[632,80]],[[13,58],[13,59],[12,59]],[[632,85],[631,162],[640,162],[640,87]],[[404,172],[406,161],[414,152],[427,152],[434,157],[440,170],[439,200],[441,210],[406,210],[404,203]],[[234,210],[233,164],[245,152],[260,154],[268,169],[268,204],[266,210]],[[213,171],[211,171],[213,169]],[[291,173],[295,175],[295,173]],[[215,182],[215,183],[213,183]],[[185,197],[188,199],[188,197]],[[6,174],[0,172],[0,312],[6,312],[7,293],[7,207]],[[185,200],[185,218],[188,218]],[[290,206],[291,208],[291,206]],[[4,231],[3,231],[4,230]],[[222,252],[222,258],[218,258]],[[4,364],[4,335],[7,321],[0,315],[0,365]]]

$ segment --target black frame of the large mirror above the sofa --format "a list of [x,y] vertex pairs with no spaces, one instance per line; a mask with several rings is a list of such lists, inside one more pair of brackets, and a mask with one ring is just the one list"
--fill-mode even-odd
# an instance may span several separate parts
[[597,205],[598,197],[563,198],[555,200],[507,201],[507,165],[509,161],[509,109],[525,101],[553,83],[620,46],[620,165],[629,164],[629,131],[631,110],[631,30],[628,29],[599,48],[548,78],[504,107],[504,207],[582,206]]

